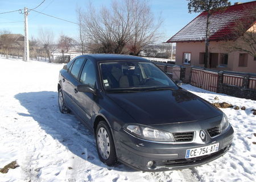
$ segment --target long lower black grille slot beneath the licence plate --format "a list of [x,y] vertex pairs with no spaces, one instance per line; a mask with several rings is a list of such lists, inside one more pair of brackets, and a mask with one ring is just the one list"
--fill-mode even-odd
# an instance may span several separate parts
[[199,164],[206,162],[207,160],[214,158],[218,155],[221,155],[226,151],[227,147],[222,148],[221,150],[214,152],[213,154],[200,156],[197,158],[191,158],[191,159],[178,159],[178,160],[163,160],[163,166],[166,167],[175,167],[175,166],[189,166],[193,164]]

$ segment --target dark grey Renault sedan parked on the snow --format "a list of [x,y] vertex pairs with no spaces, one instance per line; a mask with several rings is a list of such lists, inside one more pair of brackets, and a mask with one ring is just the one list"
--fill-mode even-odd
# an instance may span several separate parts
[[141,171],[192,168],[233,140],[221,110],[137,56],[78,56],[60,71],[59,109],[93,131],[100,160]]

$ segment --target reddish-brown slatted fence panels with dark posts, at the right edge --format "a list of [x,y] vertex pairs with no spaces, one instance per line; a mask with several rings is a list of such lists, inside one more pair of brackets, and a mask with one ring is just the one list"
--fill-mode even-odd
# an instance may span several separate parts
[[217,93],[256,100],[256,74],[191,68],[190,84]]

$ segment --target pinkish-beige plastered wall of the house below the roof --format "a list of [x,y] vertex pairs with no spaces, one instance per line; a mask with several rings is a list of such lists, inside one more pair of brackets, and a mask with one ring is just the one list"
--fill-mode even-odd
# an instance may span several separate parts
[[[209,52],[219,53],[218,65],[220,65],[221,62],[220,53],[225,53],[223,44],[224,42],[210,42],[209,46]],[[184,52],[191,53],[191,65],[204,67],[204,64],[199,64],[199,53],[205,52],[204,42],[176,43],[176,64],[183,64]],[[248,55],[247,67],[238,67],[240,53],[243,52],[231,52],[228,54],[228,68],[225,68],[225,70],[256,73],[256,61],[254,61],[254,58],[250,55]]]

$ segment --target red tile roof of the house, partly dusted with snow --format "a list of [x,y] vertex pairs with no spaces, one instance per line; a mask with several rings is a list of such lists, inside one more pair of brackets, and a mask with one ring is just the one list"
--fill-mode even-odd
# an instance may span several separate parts
[[[254,18],[250,23],[246,23],[247,30],[255,23],[256,1],[228,6],[224,11],[217,11],[210,16],[210,41],[230,40],[236,22],[247,22],[251,14]],[[172,36],[167,43],[175,42],[203,42],[205,40],[205,29],[207,12],[204,11],[182,28],[177,34]]]

